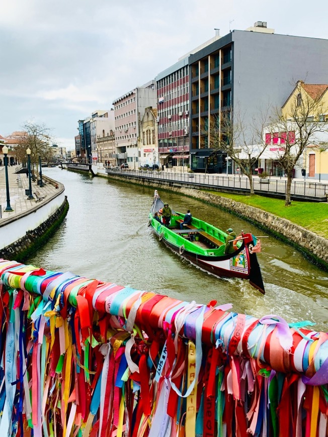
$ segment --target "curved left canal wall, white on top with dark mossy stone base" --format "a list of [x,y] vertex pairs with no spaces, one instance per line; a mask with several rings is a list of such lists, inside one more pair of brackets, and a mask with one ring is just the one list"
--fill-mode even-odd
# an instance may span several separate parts
[[[56,182],[44,177],[48,183]],[[68,211],[64,186],[58,182],[55,194],[19,214],[9,218],[0,227],[0,258],[17,261],[24,259],[41,247],[58,229]]]

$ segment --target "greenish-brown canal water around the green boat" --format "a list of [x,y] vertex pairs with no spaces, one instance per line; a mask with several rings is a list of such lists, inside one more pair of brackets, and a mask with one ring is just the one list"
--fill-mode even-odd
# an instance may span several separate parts
[[[263,296],[248,281],[212,276],[159,242],[147,227],[152,188],[59,168],[44,173],[65,185],[69,211],[56,234],[27,263],[186,301],[231,302],[236,312],[315,321],[315,330],[328,331],[328,275],[292,247],[273,237],[262,239],[258,259],[266,287]],[[265,235],[213,206],[170,192],[159,194],[177,211],[190,209],[223,230]]]

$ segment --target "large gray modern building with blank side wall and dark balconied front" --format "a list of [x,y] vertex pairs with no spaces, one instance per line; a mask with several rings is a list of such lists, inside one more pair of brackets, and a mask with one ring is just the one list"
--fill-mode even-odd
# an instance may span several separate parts
[[[191,169],[225,173],[226,154],[209,148],[209,123],[224,111],[282,106],[297,80],[328,82],[328,40],[278,35],[267,23],[233,30],[189,56]],[[228,172],[231,172],[228,169]]]

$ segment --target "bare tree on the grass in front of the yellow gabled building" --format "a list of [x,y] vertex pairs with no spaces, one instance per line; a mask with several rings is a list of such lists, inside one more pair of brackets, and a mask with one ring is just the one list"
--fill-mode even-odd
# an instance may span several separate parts
[[[308,85],[309,86],[309,85]],[[322,135],[328,132],[327,104],[322,92],[309,93],[303,81],[295,89],[282,108],[275,108],[270,134],[280,140],[277,160],[287,176],[285,206],[291,204],[293,170],[307,147],[322,144]],[[319,85],[322,86],[322,85]],[[310,95],[311,94],[311,95]]]

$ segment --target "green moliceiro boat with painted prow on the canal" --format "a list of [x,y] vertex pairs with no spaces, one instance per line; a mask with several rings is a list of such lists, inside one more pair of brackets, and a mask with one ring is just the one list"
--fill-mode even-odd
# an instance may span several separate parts
[[261,269],[257,255],[253,252],[256,239],[252,234],[241,234],[234,242],[235,252],[224,254],[227,234],[198,218],[192,217],[191,225],[180,230],[185,214],[172,208],[170,227],[154,218],[164,203],[157,190],[149,212],[149,222],[158,240],[164,242],[182,257],[216,276],[249,279],[250,284],[265,293]]

